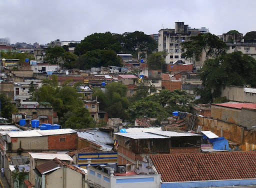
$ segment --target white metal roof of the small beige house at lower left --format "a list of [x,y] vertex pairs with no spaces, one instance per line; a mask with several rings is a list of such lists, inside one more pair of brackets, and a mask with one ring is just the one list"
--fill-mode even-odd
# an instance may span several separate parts
[[72,161],[73,159],[68,154],[62,154],[62,153],[39,153],[39,152],[29,152],[32,158],[37,159],[46,159],[51,160],[55,157],[57,157],[60,160],[69,160]]

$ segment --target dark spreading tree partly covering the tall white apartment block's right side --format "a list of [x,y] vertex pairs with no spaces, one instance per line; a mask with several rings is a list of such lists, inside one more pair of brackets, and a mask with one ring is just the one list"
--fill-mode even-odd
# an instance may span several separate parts
[[196,36],[190,36],[188,41],[181,42],[182,49],[185,49],[181,55],[191,60],[199,60],[202,53],[209,57],[215,58],[225,54],[226,44],[216,35],[211,33],[199,33]]

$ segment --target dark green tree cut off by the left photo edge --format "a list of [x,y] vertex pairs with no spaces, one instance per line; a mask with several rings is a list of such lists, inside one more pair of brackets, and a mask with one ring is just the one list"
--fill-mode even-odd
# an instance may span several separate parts
[[11,99],[4,93],[0,93],[0,117],[7,118],[11,121],[11,114],[18,112],[14,104],[11,103]]

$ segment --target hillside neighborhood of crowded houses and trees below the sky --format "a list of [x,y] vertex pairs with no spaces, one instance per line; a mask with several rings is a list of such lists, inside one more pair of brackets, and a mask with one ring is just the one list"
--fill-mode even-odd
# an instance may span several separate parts
[[11,188],[254,187],[256,31],[0,38],[0,167]]

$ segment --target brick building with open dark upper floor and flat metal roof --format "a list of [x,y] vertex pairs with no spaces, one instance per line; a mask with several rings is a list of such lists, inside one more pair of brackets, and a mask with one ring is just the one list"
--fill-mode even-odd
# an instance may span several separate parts
[[151,153],[200,152],[200,134],[174,131],[114,133],[118,140],[118,164],[141,164]]

